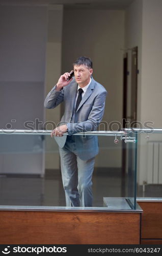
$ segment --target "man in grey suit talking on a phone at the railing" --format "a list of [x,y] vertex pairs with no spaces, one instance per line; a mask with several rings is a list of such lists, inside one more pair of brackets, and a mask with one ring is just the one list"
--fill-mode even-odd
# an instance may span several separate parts
[[73,68],[74,77],[68,79],[68,72],[61,75],[56,86],[48,93],[44,106],[54,109],[64,101],[64,115],[59,126],[51,132],[51,137],[55,136],[59,145],[66,206],[91,207],[98,138],[95,135],[73,134],[97,129],[104,113],[107,92],[92,78],[90,58],[79,57],[73,63]]

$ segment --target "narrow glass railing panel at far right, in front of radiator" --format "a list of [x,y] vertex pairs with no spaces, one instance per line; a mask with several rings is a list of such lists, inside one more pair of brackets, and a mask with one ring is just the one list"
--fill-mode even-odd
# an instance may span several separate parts
[[161,156],[162,129],[138,131],[138,198],[162,198]]

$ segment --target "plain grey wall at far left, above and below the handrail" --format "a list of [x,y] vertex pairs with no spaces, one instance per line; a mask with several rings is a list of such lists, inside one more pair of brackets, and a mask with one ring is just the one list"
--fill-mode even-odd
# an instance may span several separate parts
[[[46,28],[45,6],[1,6],[1,129],[10,129],[11,125],[12,129],[25,129],[26,121],[43,121]],[[33,128],[38,129],[35,124]],[[4,136],[1,173],[44,173],[43,142],[39,136],[1,135],[2,142]]]

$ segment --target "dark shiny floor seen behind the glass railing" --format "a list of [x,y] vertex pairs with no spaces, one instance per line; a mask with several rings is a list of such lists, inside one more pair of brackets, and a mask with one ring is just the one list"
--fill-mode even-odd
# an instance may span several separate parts
[[[103,197],[129,196],[123,181],[119,172],[94,172],[93,206],[102,207]],[[146,185],[145,193],[140,186],[137,197],[162,197],[162,185]],[[61,173],[44,178],[0,176],[0,205],[65,206]]]

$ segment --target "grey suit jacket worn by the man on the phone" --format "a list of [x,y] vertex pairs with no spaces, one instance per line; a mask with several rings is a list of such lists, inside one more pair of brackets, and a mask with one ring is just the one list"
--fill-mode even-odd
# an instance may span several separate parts
[[[91,83],[74,114],[74,102],[77,87],[78,84],[73,77],[73,80],[68,86],[64,87],[61,91],[58,92],[55,89],[56,86],[53,87],[44,102],[45,108],[54,109],[64,101],[64,115],[62,116],[59,125],[67,125],[68,135],[73,135],[79,132],[96,131],[104,113],[107,92],[100,83],[92,78]],[[55,137],[60,147],[65,145],[66,138],[67,135]],[[98,154],[98,138],[96,135],[87,135],[85,137],[81,135],[75,136],[75,144],[77,154],[82,160],[88,160]]]

